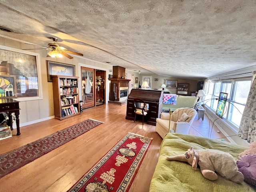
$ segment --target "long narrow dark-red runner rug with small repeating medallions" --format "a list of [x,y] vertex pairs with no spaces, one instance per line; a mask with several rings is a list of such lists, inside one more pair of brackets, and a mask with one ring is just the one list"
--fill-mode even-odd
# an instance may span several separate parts
[[0,178],[102,124],[88,119],[0,155]]

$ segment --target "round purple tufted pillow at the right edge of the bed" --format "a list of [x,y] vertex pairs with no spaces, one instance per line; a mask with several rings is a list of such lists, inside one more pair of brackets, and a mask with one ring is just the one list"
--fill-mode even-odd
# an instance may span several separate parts
[[256,155],[248,154],[238,158],[238,171],[244,175],[244,181],[256,186]]

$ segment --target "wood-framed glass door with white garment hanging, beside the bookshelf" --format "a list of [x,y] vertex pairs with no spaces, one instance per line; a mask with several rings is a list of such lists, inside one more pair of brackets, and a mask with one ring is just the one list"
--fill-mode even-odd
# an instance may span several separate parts
[[91,68],[81,67],[82,81],[82,108],[95,106],[95,70]]

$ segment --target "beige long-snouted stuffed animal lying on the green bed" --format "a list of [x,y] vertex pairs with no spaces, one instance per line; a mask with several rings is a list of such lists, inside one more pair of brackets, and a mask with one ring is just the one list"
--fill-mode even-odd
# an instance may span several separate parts
[[193,146],[184,155],[168,156],[167,160],[188,162],[196,170],[200,166],[203,176],[209,180],[216,180],[220,176],[236,183],[244,181],[244,175],[238,171],[234,158],[226,152],[214,149],[194,150]]

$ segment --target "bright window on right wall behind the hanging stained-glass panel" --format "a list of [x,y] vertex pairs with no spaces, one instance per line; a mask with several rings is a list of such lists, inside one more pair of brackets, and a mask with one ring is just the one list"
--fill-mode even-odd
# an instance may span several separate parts
[[250,91],[251,78],[209,81],[205,105],[216,111],[220,92],[228,94],[223,120],[238,129],[246,100]]

